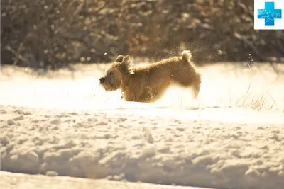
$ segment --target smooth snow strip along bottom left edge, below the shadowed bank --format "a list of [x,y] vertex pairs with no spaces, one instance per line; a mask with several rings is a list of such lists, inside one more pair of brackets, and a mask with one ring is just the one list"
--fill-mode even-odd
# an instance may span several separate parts
[[[9,173],[6,171],[0,171],[0,188],[5,189],[31,189],[40,188],[43,189],[86,189],[86,188],[100,188],[100,189],[208,189],[208,188],[194,188],[194,187],[182,187],[176,185],[157,185],[150,183],[130,183],[121,181],[110,181],[106,179],[87,179],[87,178],[75,178],[66,176],[43,176],[43,175],[27,175],[22,173]],[[3,182],[5,181],[5,182]]]

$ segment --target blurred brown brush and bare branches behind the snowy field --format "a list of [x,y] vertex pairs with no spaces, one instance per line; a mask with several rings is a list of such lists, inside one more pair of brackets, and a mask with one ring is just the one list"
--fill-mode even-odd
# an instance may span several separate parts
[[246,0],[1,0],[1,64],[57,69],[119,54],[197,64],[284,62],[283,30],[254,30]]

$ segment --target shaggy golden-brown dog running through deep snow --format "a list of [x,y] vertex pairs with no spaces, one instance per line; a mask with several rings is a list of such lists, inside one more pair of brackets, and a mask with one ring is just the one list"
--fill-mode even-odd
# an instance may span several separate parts
[[131,67],[130,56],[119,55],[107,69],[99,84],[105,91],[121,90],[125,101],[153,103],[162,98],[173,84],[189,88],[197,99],[201,74],[191,62],[191,53],[182,51],[180,57],[170,57],[146,67]]

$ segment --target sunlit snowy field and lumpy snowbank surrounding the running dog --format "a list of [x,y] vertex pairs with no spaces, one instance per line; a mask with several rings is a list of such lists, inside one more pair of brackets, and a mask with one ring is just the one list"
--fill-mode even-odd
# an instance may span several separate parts
[[284,77],[268,65],[200,68],[199,101],[171,88],[153,104],[104,92],[104,69],[79,64],[38,76],[1,67],[1,171],[283,188]]

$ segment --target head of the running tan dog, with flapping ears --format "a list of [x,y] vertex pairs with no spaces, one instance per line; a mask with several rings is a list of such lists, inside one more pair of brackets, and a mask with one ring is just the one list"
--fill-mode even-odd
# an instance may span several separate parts
[[116,57],[116,62],[107,69],[104,77],[99,79],[99,84],[106,91],[115,91],[120,88],[122,79],[131,74],[130,57],[119,55]]

